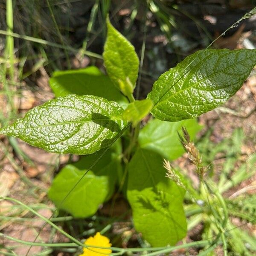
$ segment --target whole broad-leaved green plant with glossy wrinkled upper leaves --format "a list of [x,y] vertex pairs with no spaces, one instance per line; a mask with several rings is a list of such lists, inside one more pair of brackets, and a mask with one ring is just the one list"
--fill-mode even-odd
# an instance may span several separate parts
[[[183,198],[189,184],[180,186],[176,172],[169,174],[176,180],[167,179],[163,158],[174,160],[184,152],[177,137],[181,127],[194,137],[201,129],[195,118],[239,90],[256,63],[256,50],[195,52],[161,75],[147,99],[135,101],[139,59],[109,20],[107,27],[108,76],[96,67],[56,72],[50,84],[57,98],[0,133],[49,152],[90,154],[53,180],[49,198],[59,209],[78,218],[93,215],[118,184],[127,192],[137,231],[152,246],[173,245],[186,236]],[[155,119],[140,132],[149,113]]]

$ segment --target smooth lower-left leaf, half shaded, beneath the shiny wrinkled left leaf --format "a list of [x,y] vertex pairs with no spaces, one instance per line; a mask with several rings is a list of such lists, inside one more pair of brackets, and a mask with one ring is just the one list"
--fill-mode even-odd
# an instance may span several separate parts
[[106,152],[100,150],[83,156],[77,163],[61,169],[53,180],[48,196],[56,207],[76,218],[87,218],[95,214],[99,206],[113,194],[120,168],[113,146]]

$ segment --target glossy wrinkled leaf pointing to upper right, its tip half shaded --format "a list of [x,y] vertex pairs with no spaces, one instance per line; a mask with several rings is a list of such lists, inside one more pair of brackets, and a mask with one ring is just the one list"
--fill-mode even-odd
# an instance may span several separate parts
[[148,99],[151,113],[163,121],[192,119],[227,101],[256,64],[256,50],[206,49],[163,73]]

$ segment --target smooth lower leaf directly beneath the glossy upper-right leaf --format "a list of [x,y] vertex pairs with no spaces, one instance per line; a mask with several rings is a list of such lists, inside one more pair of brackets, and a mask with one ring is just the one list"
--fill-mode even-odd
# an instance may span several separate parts
[[196,119],[180,122],[153,119],[140,131],[140,147],[155,151],[168,160],[175,160],[185,152],[177,136],[177,132],[181,133],[182,126],[186,127],[192,139],[202,128]]

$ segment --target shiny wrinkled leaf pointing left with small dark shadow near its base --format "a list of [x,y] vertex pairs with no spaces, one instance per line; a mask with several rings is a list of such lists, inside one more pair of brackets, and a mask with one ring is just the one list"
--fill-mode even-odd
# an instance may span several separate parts
[[107,99],[70,94],[33,108],[0,133],[49,152],[92,154],[122,134],[127,125],[122,111]]

